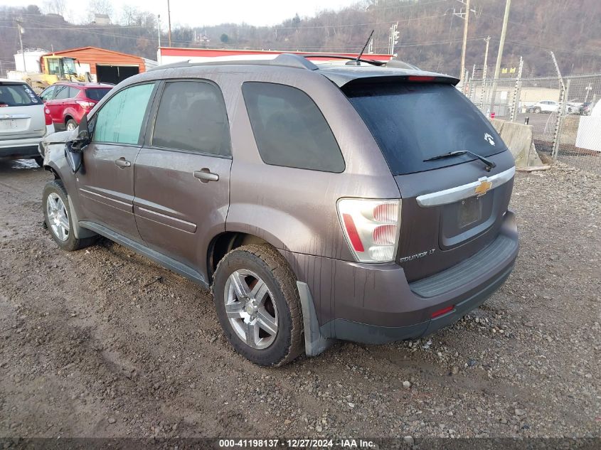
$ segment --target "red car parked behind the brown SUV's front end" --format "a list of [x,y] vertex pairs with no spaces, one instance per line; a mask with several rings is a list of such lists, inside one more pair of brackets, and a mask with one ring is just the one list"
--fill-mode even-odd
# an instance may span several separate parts
[[107,95],[113,85],[91,82],[57,82],[46,87],[40,97],[50,109],[57,130],[75,129],[83,117]]

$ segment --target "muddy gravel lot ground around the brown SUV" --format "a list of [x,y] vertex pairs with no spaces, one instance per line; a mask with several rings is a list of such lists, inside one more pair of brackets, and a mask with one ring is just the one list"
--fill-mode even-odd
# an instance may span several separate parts
[[599,177],[518,173],[516,269],[454,326],[266,369],[192,282],[60,252],[35,167],[0,164],[0,436],[601,436]]

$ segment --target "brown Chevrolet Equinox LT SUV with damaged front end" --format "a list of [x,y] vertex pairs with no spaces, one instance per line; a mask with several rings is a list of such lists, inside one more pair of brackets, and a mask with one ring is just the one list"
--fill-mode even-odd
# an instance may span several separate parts
[[102,235],[202,286],[260,365],[456,321],[509,276],[514,160],[457,79],[410,65],[184,63],[41,149],[53,239]]

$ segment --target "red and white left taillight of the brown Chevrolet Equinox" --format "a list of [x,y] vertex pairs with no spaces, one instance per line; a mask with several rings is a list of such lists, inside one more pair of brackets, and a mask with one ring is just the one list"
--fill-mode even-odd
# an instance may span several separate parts
[[392,262],[398,242],[400,200],[341,198],[344,237],[358,262]]

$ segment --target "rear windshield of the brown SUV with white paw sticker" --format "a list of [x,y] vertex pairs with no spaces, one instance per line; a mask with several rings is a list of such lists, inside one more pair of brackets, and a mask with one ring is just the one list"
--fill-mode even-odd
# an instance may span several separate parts
[[506,149],[491,123],[452,85],[366,84],[345,93],[394,175],[474,160],[464,154],[424,161],[450,151],[491,156]]

